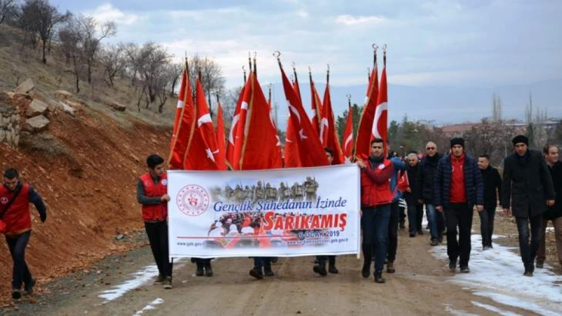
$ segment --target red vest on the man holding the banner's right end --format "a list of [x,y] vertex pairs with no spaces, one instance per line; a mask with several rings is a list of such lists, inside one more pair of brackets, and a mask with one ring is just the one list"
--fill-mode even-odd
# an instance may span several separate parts
[[[382,173],[384,168],[388,168],[391,163],[392,162],[388,159],[384,159],[383,162],[374,169],[374,172]],[[373,170],[369,161],[366,161],[365,164],[369,170]],[[384,167],[381,168],[381,166]],[[389,204],[392,202],[392,198],[390,181],[384,182],[384,184],[375,184],[375,182],[373,182],[365,172],[361,172],[362,207],[377,207],[379,205]]]

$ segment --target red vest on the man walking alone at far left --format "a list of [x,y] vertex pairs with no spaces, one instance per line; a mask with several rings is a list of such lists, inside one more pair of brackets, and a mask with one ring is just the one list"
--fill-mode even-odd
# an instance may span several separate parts
[[[4,211],[14,192],[0,186],[0,212]],[[29,212],[29,185],[22,185],[20,194],[4,212],[2,221],[6,224],[6,235],[17,236],[31,230],[31,213]]]

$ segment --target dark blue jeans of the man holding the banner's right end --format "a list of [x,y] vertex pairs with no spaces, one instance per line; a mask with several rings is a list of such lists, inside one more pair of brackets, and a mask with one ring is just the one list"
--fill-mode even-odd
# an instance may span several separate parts
[[375,250],[375,273],[383,271],[384,258],[388,246],[388,222],[390,221],[390,204],[379,207],[362,208],[361,228],[363,229],[363,260],[371,264],[373,246]]

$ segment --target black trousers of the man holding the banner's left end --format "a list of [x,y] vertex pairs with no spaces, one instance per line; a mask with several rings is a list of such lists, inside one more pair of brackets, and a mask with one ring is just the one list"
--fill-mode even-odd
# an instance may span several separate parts
[[158,267],[158,273],[165,277],[171,277],[173,263],[169,261],[168,225],[166,221],[154,223],[145,222],[144,229],[148,235],[152,255]]

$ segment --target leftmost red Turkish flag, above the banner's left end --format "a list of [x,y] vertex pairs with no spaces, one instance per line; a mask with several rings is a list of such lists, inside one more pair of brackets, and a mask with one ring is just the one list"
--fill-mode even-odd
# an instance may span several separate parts
[[176,107],[176,117],[174,121],[174,131],[172,134],[170,148],[170,169],[180,170],[184,166],[184,157],[189,144],[192,140],[195,128],[195,107],[191,94],[191,83],[186,70],[182,74],[182,84],[178,95],[178,106]]

